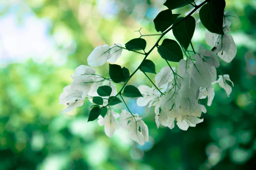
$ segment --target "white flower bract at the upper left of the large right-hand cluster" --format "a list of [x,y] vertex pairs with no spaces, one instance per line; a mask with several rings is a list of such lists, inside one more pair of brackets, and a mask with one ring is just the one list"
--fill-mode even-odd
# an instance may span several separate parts
[[[175,67],[172,67],[175,71]],[[159,73],[155,76],[155,85],[159,88],[165,90],[168,87],[168,82],[172,81],[174,78],[174,73],[169,66],[163,67]]]

